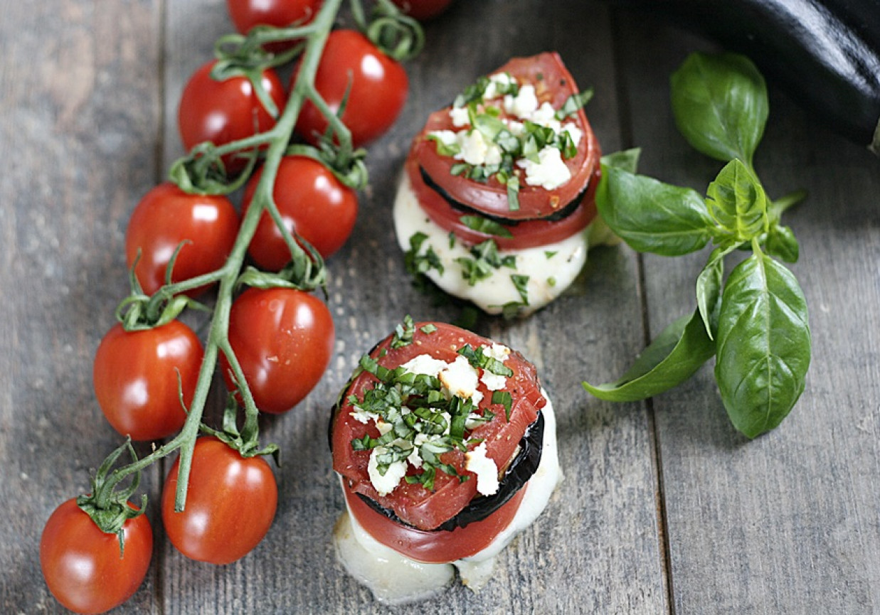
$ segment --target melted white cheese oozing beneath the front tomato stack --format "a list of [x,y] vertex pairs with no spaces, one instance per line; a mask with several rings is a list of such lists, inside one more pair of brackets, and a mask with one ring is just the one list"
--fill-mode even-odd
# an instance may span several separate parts
[[547,404],[541,410],[544,439],[538,470],[523,487],[523,500],[510,525],[479,553],[449,564],[410,560],[372,538],[348,510],[342,513],[334,528],[336,556],[348,574],[368,587],[378,602],[396,605],[428,599],[452,582],[456,569],[461,582],[474,591],[488,582],[495,556],[538,518],[562,480],[553,404],[546,391],[543,393]]

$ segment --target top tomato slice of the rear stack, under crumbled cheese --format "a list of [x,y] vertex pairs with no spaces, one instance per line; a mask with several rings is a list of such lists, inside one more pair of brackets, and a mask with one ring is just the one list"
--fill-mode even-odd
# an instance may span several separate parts
[[[558,54],[544,53],[525,58],[513,58],[495,73],[510,73],[519,84],[533,84],[539,104],[549,102],[554,109],[560,109],[569,96],[578,92],[575,79],[565,68]],[[453,175],[451,168],[458,160],[437,152],[436,143],[428,138],[435,130],[455,130],[449,113],[450,107],[432,113],[416,136],[413,155],[429,178],[448,194],[453,201],[466,204],[481,214],[510,220],[535,220],[553,216],[574,201],[590,182],[598,167],[599,147],[586,113],[579,109],[565,122],[574,122],[582,133],[582,141],[574,157],[564,160],[571,172],[571,179],[554,190],[539,186],[529,186],[520,182],[519,209],[511,210],[507,198],[507,187],[495,177],[485,182]],[[595,213],[593,213],[595,216]],[[591,219],[591,218],[590,218]]]

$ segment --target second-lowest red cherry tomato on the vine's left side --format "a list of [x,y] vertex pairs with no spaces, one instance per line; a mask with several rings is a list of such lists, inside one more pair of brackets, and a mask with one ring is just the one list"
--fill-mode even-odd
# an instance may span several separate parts
[[92,380],[107,421],[132,440],[158,440],[183,426],[202,366],[202,343],[178,320],[145,331],[114,325],[95,354]]

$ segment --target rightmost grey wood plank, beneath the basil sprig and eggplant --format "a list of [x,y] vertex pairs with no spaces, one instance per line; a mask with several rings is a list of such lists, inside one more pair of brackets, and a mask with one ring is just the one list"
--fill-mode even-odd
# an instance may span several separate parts
[[[642,171],[703,190],[720,165],[678,136],[667,79],[707,44],[624,21]],[[772,196],[810,192],[786,220],[801,242],[792,270],[810,304],[813,362],[792,414],[753,442],[730,426],[711,366],[653,401],[679,615],[880,609],[880,161],[773,94],[755,164]],[[693,310],[706,257],[645,259],[653,333]]]

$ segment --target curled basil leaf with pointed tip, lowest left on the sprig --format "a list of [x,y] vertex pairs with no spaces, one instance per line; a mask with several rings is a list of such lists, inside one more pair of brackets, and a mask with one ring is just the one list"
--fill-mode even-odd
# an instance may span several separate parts
[[667,326],[619,380],[583,388],[606,401],[647,399],[693,376],[715,354],[700,312],[683,316]]

